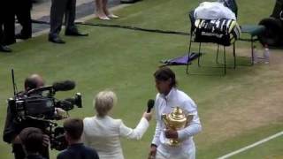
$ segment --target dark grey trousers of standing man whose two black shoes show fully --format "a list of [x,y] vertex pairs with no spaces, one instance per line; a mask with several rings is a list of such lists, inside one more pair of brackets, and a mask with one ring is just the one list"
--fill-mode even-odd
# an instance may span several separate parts
[[50,36],[60,34],[65,16],[65,30],[77,31],[74,25],[76,17],[76,0],[52,0],[50,9]]

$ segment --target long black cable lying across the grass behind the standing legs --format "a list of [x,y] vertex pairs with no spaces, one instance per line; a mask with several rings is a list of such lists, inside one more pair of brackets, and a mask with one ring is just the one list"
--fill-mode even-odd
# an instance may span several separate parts
[[[41,20],[34,20],[32,19],[33,23],[36,24],[46,24],[49,25],[49,22],[41,21]],[[180,35],[190,35],[186,32],[177,32],[177,31],[171,31],[171,30],[159,30],[159,29],[148,29],[148,28],[142,28],[142,27],[131,27],[131,26],[120,26],[120,25],[110,25],[110,24],[95,24],[90,22],[75,22],[75,24],[83,25],[83,26],[92,26],[92,27],[118,27],[118,28],[124,28],[124,29],[130,29],[130,30],[139,30],[143,32],[152,32],[152,33],[160,33],[160,34],[180,34]]]

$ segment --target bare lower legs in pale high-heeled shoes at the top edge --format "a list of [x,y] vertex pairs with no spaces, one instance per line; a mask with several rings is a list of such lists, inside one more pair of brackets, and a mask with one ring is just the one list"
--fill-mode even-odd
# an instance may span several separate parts
[[114,15],[108,10],[107,2],[108,0],[96,0],[96,15],[98,19],[118,19],[119,17],[117,15]]

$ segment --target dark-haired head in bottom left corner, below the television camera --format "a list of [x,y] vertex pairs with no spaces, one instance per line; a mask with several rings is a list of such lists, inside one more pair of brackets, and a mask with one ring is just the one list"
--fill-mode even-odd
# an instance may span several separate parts
[[19,139],[27,154],[26,159],[46,159],[40,155],[43,133],[39,128],[27,127],[19,133]]

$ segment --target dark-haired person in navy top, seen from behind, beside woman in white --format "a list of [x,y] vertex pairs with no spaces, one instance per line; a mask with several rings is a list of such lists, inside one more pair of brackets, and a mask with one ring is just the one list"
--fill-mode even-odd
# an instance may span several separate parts
[[68,118],[64,122],[65,140],[69,148],[57,155],[57,159],[99,159],[96,150],[85,147],[80,140],[83,122],[79,118]]

